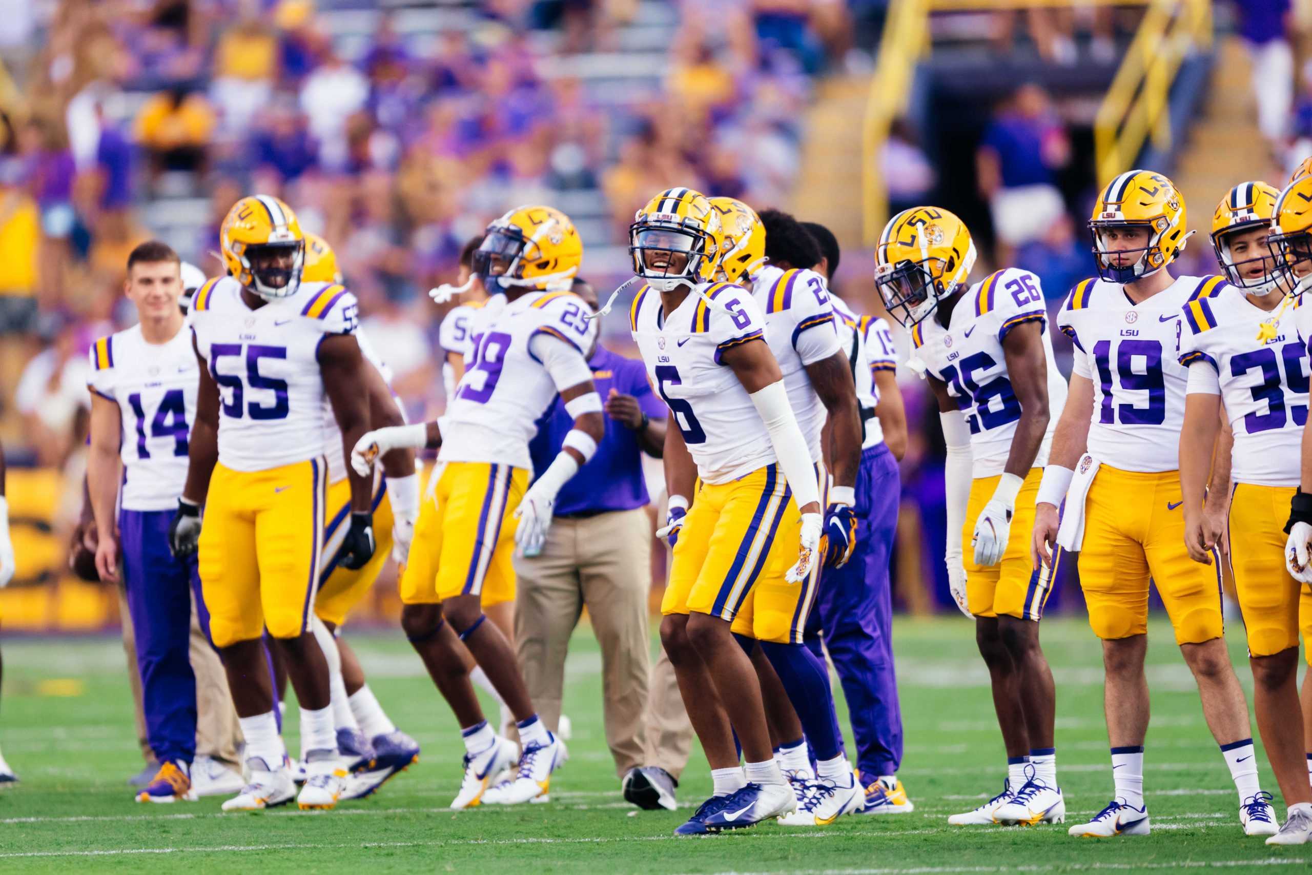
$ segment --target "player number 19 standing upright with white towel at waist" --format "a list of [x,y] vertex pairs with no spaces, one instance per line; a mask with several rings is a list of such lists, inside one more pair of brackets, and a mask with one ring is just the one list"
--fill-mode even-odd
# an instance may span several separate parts
[[[1113,800],[1072,826],[1072,836],[1149,832],[1143,796],[1149,580],[1235,779],[1244,830],[1275,832],[1270,796],[1258,786],[1244,691],[1221,638],[1220,568],[1195,563],[1185,547],[1182,308],[1224,283],[1223,277],[1170,275],[1186,227],[1185,201],[1165,176],[1128,171],[1111,180],[1089,220],[1098,277],[1077,283],[1057,316],[1075,344],[1075,366],[1039,487],[1031,550],[1036,563],[1048,561],[1055,544],[1080,552],[1089,624],[1102,639],[1115,781]],[[1210,485],[1210,495],[1224,501],[1227,484],[1216,472]]]

